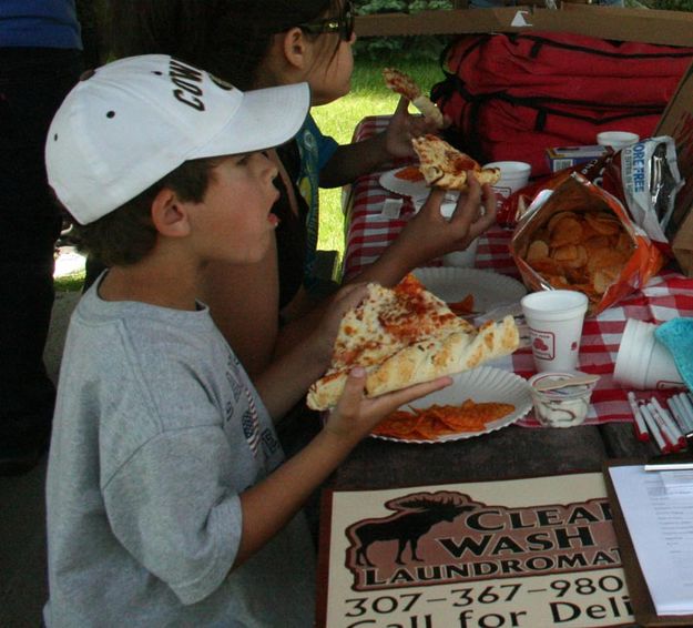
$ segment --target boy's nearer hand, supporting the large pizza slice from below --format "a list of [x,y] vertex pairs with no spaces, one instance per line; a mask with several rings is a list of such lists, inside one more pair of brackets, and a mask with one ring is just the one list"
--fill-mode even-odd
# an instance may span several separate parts
[[364,394],[366,371],[357,366],[349,373],[344,393],[342,393],[335,409],[329,413],[325,431],[356,445],[361,438],[370,434],[380,421],[399,406],[445,388],[451,383],[451,377],[438,377],[431,382],[415,384],[401,391],[366,398]]

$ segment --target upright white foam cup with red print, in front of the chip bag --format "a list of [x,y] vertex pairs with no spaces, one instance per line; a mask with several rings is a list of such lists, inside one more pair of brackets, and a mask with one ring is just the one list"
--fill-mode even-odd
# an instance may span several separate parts
[[588,297],[573,290],[532,292],[521,300],[538,373],[575,371]]

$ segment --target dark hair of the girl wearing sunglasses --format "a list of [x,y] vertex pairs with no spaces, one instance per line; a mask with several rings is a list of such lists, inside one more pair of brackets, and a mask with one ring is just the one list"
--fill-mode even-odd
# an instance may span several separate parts
[[[248,90],[258,84],[258,65],[276,33],[338,12],[342,4],[343,0],[118,0],[111,3],[110,47],[118,58],[171,54]],[[334,53],[338,47],[337,39]]]

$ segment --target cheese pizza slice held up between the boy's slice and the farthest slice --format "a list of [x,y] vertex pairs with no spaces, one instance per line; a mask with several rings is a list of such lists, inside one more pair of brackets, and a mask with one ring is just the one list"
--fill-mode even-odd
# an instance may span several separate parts
[[473,159],[458,151],[438,135],[414,138],[411,145],[419,155],[419,170],[426,183],[445,190],[467,190],[467,172],[473,172],[479,183],[498,183],[500,169],[482,169]]

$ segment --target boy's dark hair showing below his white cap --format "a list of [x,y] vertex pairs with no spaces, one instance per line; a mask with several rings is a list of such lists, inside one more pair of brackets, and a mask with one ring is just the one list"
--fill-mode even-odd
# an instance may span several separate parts
[[80,251],[93,255],[106,266],[128,266],[143,260],[156,243],[152,223],[152,203],[164,189],[185,202],[200,203],[218,158],[184,162],[134,199],[93,223],[75,223],[71,232]]

